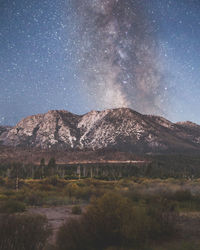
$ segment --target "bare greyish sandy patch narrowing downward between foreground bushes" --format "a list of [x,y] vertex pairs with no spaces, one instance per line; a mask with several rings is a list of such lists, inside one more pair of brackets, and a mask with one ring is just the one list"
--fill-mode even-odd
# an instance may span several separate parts
[[[70,218],[78,218],[80,215],[72,214],[72,205],[68,206],[56,206],[56,207],[34,207],[29,208],[28,213],[45,215],[49,221],[49,225],[52,229],[52,235],[49,239],[49,243],[55,242],[56,233],[60,226],[69,220]],[[84,207],[82,207],[84,210]]]

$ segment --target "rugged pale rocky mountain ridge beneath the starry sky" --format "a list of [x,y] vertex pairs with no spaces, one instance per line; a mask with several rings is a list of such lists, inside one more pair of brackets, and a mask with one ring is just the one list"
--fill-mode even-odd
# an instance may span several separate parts
[[200,150],[200,126],[174,124],[162,117],[120,108],[78,116],[49,111],[27,117],[15,127],[0,127],[0,144],[42,149],[116,149],[140,153]]

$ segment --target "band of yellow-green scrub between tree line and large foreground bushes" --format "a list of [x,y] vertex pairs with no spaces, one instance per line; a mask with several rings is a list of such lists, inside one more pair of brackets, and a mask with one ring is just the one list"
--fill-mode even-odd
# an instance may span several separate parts
[[0,212],[23,212],[28,206],[88,204],[93,197],[114,192],[135,204],[167,200],[179,212],[200,211],[200,179],[151,179],[131,177],[118,181],[65,180],[57,176],[42,180],[0,178]]

